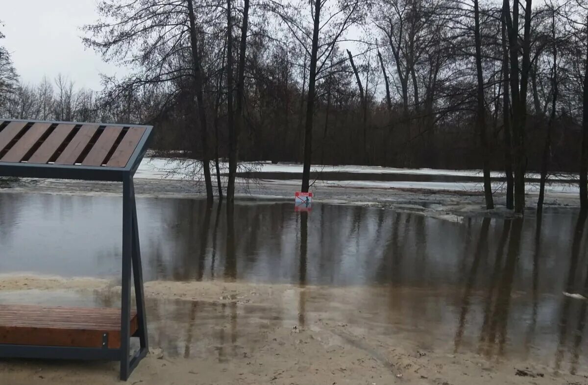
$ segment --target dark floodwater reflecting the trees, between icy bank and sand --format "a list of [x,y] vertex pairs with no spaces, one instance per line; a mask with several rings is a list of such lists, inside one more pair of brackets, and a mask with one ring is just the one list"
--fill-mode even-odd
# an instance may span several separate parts
[[[375,207],[315,204],[299,213],[293,202],[249,202],[228,220],[224,206],[203,200],[137,205],[145,280],[309,288],[282,307],[149,300],[153,342],[177,354],[202,346],[192,338],[204,337],[188,341],[186,330],[236,325],[235,314],[243,325],[305,324],[330,313],[423,349],[516,356],[572,372],[588,364],[588,301],[563,295],[588,292],[587,230],[577,211],[453,223]],[[121,206],[111,196],[0,194],[0,271],[118,277]],[[166,314],[183,326],[169,327]],[[235,328],[218,346],[234,343]]]

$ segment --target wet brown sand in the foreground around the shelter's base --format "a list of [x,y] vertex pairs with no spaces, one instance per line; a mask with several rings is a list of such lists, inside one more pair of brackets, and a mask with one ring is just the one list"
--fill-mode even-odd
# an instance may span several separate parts
[[[588,383],[582,365],[570,374],[500,356],[490,344],[456,352],[453,340],[431,348],[413,332],[392,332],[401,320],[365,300],[388,287],[155,281],[145,290],[151,354],[129,384]],[[118,298],[108,280],[0,276],[0,303],[116,306]],[[112,384],[117,376],[116,363],[0,361],[2,384]]]

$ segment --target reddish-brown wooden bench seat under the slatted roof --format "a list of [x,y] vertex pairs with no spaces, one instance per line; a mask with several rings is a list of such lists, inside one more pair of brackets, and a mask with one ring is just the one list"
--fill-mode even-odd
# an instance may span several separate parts
[[[136,312],[131,312],[131,335],[136,332]],[[102,347],[108,333],[108,347],[121,347],[121,309],[0,306],[0,344]]]

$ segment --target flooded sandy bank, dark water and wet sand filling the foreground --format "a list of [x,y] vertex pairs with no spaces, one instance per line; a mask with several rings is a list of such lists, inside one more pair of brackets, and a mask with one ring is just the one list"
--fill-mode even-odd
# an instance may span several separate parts
[[[586,383],[577,210],[455,223],[241,200],[229,226],[201,199],[137,205],[153,354],[132,381]],[[117,196],[0,194],[0,303],[118,306],[120,213]],[[17,360],[0,374],[106,384],[116,369]]]

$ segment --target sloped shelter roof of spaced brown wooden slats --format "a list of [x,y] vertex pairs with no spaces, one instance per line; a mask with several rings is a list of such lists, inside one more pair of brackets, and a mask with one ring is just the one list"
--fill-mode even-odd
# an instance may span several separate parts
[[122,180],[152,126],[0,119],[0,176]]

